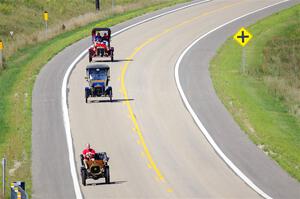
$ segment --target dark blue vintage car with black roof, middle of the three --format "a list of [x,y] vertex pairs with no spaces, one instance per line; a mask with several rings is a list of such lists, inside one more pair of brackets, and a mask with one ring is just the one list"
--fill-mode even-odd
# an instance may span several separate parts
[[89,97],[109,97],[112,101],[112,87],[108,86],[110,80],[109,66],[106,64],[89,64],[86,67],[85,102]]

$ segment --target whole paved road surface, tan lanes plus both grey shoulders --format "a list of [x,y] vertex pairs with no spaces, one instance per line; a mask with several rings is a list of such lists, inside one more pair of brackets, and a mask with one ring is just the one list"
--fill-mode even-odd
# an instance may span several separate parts
[[[88,58],[78,63],[68,85],[77,171],[80,167],[79,154],[89,142],[94,149],[106,151],[110,156],[112,181],[105,185],[104,180],[88,180],[88,186],[81,186],[85,198],[260,197],[223,162],[194,123],[178,93],[174,66],[182,51],[199,36],[236,17],[276,2],[279,1],[211,1],[117,35],[112,41],[117,61],[105,62],[111,67],[112,103],[107,98],[85,103],[84,87],[87,82],[84,76]],[[263,14],[254,14],[245,23],[248,25],[290,5],[282,4]],[[126,24],[114,30],[122,26]],[[198,54],[191,53],[187,60],[183,60],[180,68],[183,87],[198,116],[208,125],[206,127],[211,130],[221,149],[251,180],[270,196],[297,198],[299,184],[257,150],[239,129],[236,130],[236,124],[226,115],[219,101],[215,100],[219,103],[216,107],[221,108],[203,108],[205,104],[212,106],[216,96],[197,98],[205,89],[212,89],[210,82],[200,85],[199,79],[205,74],[207,76],[203,79],[209,81],[208,60],[224,38],[236,31],[235,28],[229,28],[224,34],[216,33],[211,42],[193,49]],[[75,198],[68,170],[59,89],[68,63],[88,45],[90,38],[68,47],[51,60],[38,77],[33,95],[34,198]],[[198,76],[199,70],[193,68],[193,64],[197,63],[203,68],[202,76]],[[52,90],[53,87],[58,91]],[[52,88],[51,92],[48,92],[48,88]],[[211,115],[218,115],[219,110],[225,112],[220,114],[225,116],[211,119]],[[208,115],[208,119],[205,115]],[[231,139],[222,142],[224,136],[218,132],[224,125],[226,128],[223,132],[228,133]],[[245,149],[241,143],[246,143]],[[232,145],[235,147],[230,147]],[[264,164],[272,169],[269,170]],[[286,184],[291,186],[280,187]]]

